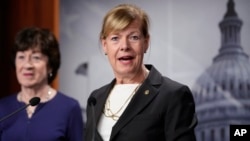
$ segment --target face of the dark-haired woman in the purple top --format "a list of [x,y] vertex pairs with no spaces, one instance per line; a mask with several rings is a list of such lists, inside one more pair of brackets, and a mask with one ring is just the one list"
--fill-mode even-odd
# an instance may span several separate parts
[[23,87],[48,83],[48,57],[38,49],[18,51],[15,58],[16,75]]

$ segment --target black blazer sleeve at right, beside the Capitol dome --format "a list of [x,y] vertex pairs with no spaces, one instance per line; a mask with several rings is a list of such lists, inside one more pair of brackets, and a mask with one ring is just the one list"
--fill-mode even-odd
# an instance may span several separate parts
[[197,125],[193,95],[183,86],[169,100],[165,133],[167,141],[196,141],[194,128]]

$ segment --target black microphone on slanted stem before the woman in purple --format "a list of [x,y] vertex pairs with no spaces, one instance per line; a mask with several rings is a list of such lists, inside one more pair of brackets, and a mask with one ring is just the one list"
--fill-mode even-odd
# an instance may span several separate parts
[[9,117],[15,115],[16,113],[22,111],[23,109],[27,108],[28,106],[30,106],[30,105],[31,105],[31,106],[36,106],[36,105],[38,105],[39,103],[40,103],[40,98],[39,98],[39,97],[33,97],[33,98],[31,98],[30,101],[29,101],[29,104],[27,104],[27,105],[25,105],[25,106],[23,106],[23,107],[17,109],[16,111],[10,113],[10,114],[7,115],[7,116],[1,118],[1,119],[0,119],[0,123],[1,123],[2,121],[4,121],[4,120],[8,119]]

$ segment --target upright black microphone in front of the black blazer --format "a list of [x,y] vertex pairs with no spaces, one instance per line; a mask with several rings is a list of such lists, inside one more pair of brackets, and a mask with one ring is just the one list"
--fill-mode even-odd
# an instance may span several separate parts
[[95,104],[96,104],[96,99],[95,97],[91,96],[88,99],[88,105],[91,108],[91,113],[92,113],[92,136],[91,136],[91,141],[95,141],[95,132],[96,132],[96,122],[95,122]]

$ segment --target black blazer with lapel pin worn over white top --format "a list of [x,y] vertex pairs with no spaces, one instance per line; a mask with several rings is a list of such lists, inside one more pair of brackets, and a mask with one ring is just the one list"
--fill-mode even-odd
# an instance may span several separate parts
[[[190,89],[162,76],[152,65],[146,67],[150,73],[112,128],[110,141],[195,141],[197,118]],[[92,140],[93,124],[98,125],[114,84],[115,80],[91,93],[96,117],[93,121],[87,105],[85,141]],[[102,141],[94,130],[95,141]]]

